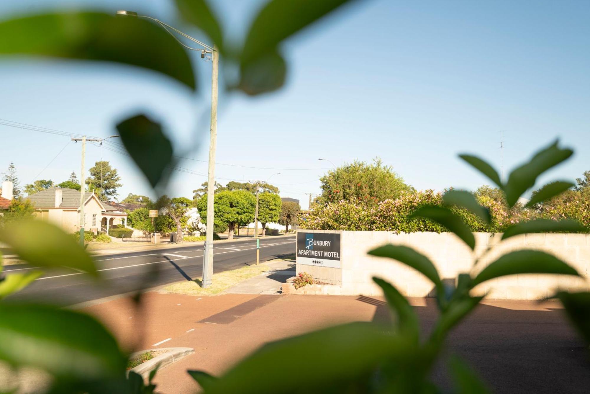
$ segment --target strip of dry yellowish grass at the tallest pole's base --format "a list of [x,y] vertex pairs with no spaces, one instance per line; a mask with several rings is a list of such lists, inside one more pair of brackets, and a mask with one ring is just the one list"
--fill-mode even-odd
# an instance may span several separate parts
[[166,286],[160,293],[185,294],[185,295],[215,295],[228,288],[237,285],[241,281],[270,271],[268,265],[247,265],[237,270],[223,271],[213,274],[212,284],[207,288],[201,287],[201,278],[194,281],[182,281]]

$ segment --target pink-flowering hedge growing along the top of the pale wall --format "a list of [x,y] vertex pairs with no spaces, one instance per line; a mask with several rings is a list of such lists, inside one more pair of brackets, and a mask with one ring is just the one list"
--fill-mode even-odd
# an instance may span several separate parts
[[[556,216],[545,211],[523,209],[520,205],[507,209],[503,204],[484,196],[478,197],[478,202],[490,209],[489,225],[466,209],[451,208],[451,211],[461,216],[474,232],[502,232],[504,228],[517,222],[541,217],[555,219]],[[311,211],[300,214],[299,226],[301,229],[393,231],[398,234],[418,231],[444,232],[444,227],[428,219],[411,218],[418,208],[427,205],[442,205],[442,193],[432,190],[405,193],[398,199],[379,202],[375,208],[369,209],[348,201],[316,205]],[[590,226],[590,218],[586,216],[559,216],[565,217],[578,219],[585,226]]]

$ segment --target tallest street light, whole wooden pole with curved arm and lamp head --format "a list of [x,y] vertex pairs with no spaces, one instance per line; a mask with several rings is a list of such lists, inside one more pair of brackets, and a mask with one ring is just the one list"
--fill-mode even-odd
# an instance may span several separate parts
[[[203,287],[211,285],[211,277],[213,275],[213,198],[215,192],[215,149],[217,148],[217,96],[218,96],[218,75],[219,75],[219,51],[217,46],[214,44],[212,47],[204,44],[203,42],[192,38],[188,34],[173,28],[159,19],[148,17],[146,15],[137,15],[137,12],[120,10],[117,11],[117,15],[126,15],[129,17],[146,18],[150,19],[159,24],[165,29],[176,41],[179,42],[184,48],[191,51],[201,52],[201,58],[205,60],[211,60],[212,72],[211,72],[211,134],[209,140],[209,169],[207,173],[207,237],[205,241],[205,254],[203,256]],[[201,48],[192,48],[188,45],[183,44],[172,31],[176,34],[182,35],[188,40],[201,45]],[[211,57],[207,56],[211,54]]]

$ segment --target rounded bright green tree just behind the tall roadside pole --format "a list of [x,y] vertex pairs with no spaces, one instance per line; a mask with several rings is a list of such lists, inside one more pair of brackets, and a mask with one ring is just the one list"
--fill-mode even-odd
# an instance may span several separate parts
[[[247,224],[254,220],[256,199],[244,190],[222,191],[214,199],[214,223],[227,224],[228,239],[234,238],[235,225]],[[207,196],[199,199],[197,209],[203,223],[207,224]]]

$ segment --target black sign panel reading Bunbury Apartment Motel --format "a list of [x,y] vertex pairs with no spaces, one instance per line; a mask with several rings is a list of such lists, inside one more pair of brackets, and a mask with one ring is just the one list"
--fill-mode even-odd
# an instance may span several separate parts
[[340,234],[298,232],[297,264],[340,268]]

